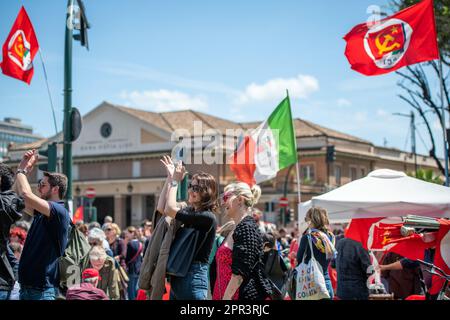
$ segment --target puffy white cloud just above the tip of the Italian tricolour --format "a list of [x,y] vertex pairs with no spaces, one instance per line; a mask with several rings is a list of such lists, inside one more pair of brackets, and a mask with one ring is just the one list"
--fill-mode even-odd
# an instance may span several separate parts
[[295,78],[276,78],[264,84],[252,83],[245,88],[238,99],[239,104],[252,101],[279,100],[286,96],[286,89],[292,98],[307,98],[319,90],[319,81],[308,75],[298,75]]

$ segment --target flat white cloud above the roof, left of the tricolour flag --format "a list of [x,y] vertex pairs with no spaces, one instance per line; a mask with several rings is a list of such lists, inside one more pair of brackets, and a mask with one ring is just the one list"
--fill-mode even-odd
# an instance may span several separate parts
[[179,91],[156,90],[156,91],[122,91],[120,98],[126,104],[149,111],[166,112],[174,110],[193,109],[205,111],[208,102],[205,96],[190,96]]

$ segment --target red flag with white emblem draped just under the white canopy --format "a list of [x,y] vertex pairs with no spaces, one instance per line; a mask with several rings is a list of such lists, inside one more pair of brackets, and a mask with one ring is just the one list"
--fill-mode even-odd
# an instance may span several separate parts
[[[353,219],[346,237],[361,242],[367,250],[395,252],[408,259],[424,258],[424,251],[436,245],[436,241],[425,242],[418,234],[403,236],[403,223],[393,218]],[[429,236],[433,239],[432,235]]]

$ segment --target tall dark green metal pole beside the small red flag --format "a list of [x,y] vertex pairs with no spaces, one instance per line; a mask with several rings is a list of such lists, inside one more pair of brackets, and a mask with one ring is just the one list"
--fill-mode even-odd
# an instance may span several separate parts
[[66,37],[64,46],[64,153],[63,173],[67,176],[66,205],[72,203],[72,38],[73,38],[73,0],[67,1]]

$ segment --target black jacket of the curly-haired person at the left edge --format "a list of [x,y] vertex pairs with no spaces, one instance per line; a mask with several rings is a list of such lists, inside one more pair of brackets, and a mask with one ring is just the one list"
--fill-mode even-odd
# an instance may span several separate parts
[[15,192],[0,193],[0,290],[11,290],[17,279],[18,263],[8,247],[9,229],[24,208],[25,202]]

